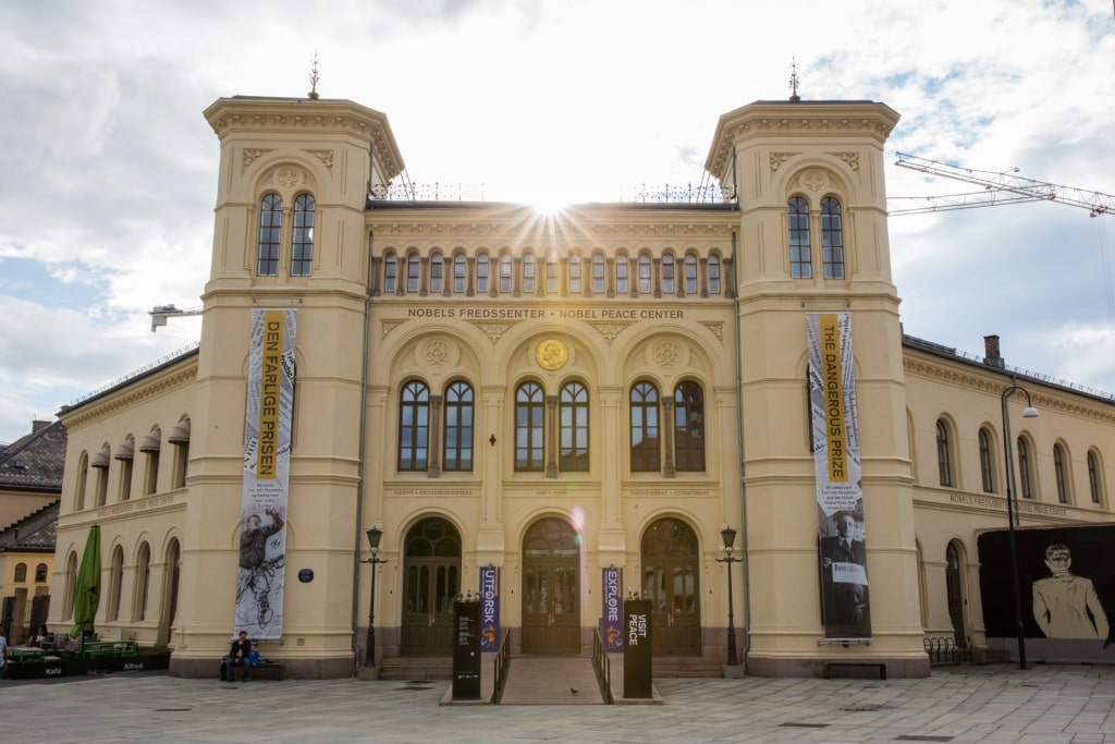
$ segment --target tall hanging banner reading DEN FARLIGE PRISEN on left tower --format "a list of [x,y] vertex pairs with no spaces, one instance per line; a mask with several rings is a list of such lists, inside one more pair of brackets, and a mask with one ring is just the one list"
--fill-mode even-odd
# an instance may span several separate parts
[[294,310],[252,310],[233,628],[252,639],[282,636],[294,328]]

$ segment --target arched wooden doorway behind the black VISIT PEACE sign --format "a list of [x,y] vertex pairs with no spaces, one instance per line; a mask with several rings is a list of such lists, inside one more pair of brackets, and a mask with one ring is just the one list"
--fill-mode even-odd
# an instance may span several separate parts
[[642,535],[642,598],[651,605],[652,650],[700,654],[697,534],[676,519],[658,520]]

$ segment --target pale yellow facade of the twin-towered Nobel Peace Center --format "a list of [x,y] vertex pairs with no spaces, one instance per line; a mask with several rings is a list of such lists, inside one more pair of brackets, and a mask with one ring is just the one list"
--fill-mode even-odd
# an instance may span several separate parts
[[[999,431],[1009,376],[903,340],[882,160],[890,108],[752,104],[714,135],[707,167],[725,201],[551,215],[395,196],[403,158],[387,119],[350,102],[226,98],[205,115],[221,171],[200,348],[61,415],[55,591],[71,593],[99,524],[103,635],[168,644],[184,676],[210,676],[227,647],[249,322],[266,308],[298,319],[282,635],[263,644],[289,675],[348,676],[363,663],[372,526],[387,561],[378,658],[448,653],[447,602],[475,591],[486,566],[501,570],[513,650],[586,654],[601,570],[618,567],[624,593],[660,600],[665,655],[724,659],[730,610],[749,674],[866,660],[923,676],[923,638],[956,630],[950,542],[962,632],[983,642],[975,539],[1005,526],[1005,497],[982,492],[972,442],[980,426]],[[307,195],[309,233],[297,214]],[[792,224],[793,199],[806,212]],[[833,202],[842,253],[825,242]],[[791,247],[803,224],[804,259]],[[837,311],[853,326],[870,644],[826,641],[821,619],[805,318]],[[1106,496],[1048,503],[1041,453],[1065,444],[1083,493],[1085,453],[1115,446],[1112,402],[1032,387],[1039,479],[1024,524],[1109,519]],[[938,481],[942,417],[950,486]],[[90,465],[106,453],[107,468]],[[741,528],[745,559],[733,608],[717,561],[725,525]],[[55,602],[52,622],[71,607]]]

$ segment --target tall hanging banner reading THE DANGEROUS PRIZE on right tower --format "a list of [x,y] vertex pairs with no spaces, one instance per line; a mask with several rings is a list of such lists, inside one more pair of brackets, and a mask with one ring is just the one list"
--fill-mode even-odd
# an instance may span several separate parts
[[825,637],[870,638],[852,313],[809,312],[805,328]]

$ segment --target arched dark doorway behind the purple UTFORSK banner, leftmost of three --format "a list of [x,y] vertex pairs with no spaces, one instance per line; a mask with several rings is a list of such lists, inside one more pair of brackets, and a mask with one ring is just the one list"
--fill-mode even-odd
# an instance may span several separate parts
[[407,533],[404,561],[403,654],[452,653],[460,534],[439,516],[425,519]]

